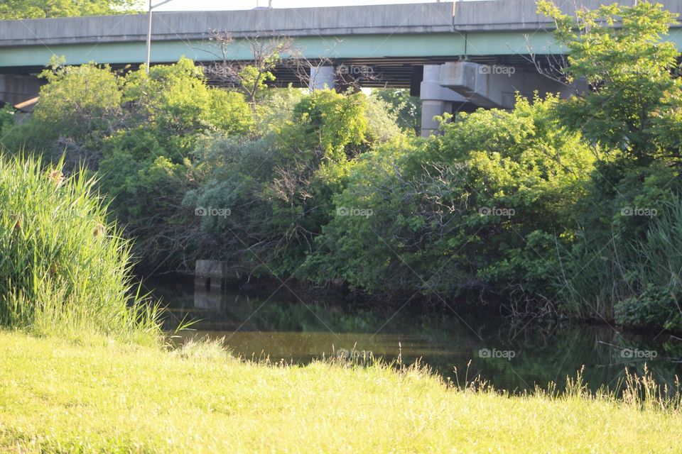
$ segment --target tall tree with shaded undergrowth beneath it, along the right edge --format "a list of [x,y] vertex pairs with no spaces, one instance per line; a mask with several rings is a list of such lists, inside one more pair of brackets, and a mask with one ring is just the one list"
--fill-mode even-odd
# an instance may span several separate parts
[[[673,326],[682,289],[682,79],[680,54],[664,38],[675,15],[660,4],[614,4],[578,11],[576,24],[548,2],[539,9],[556,20],[556,37],[570,50],[567,79],[592,87],[558,106],[558,118],[598,158],[588,194],[575,206],[576,240],[558,251],[558,302],[580,316],[612,319],[615,305],[622,323]],[[655,321],[653,312],[631,310],[656,294],[668,296],[659,299]]]

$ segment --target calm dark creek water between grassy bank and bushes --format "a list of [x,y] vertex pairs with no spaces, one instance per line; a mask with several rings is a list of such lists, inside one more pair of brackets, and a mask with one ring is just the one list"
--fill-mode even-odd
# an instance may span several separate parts
[[[363,355],[411,363],[421,360],[444,377],[462,382],[480,375],[498,389],[520,391],[585,366],[585,380],[596,389],[617,387],[624,368],[659,382],[682,376],[682,339],[636,335],[608,326],[514,326],[506,319],[455,314],[350,311],[335,304],[313,304],[271,292],[195,291],[191,279],[150,279],[146,287],[168,305],[166,326],[199,319],[184,336],[224,338],[234,354],[246,358],[305,363],[330,355]],[[455,308],[456,310],[457,308]],[[463,311],[463,309],[462,309]],[[461,318],[460,318],[461,317]],[[468,367],[467,367],[467,364]]]

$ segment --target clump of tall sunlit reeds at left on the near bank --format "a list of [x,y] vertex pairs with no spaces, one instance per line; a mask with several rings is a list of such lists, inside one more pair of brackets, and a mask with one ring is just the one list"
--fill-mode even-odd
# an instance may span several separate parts
[[130,248],[94,180],[63,162],[0,155],[0,324],[40,335],[158,343],[157,310],[131,281]]

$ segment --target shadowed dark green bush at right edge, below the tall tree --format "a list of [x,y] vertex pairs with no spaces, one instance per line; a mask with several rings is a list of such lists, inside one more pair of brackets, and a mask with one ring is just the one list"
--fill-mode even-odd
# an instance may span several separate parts
[[[677,175],[675,168],[656,163],[634,168],[600,163],[587,196],[575,205],[576,238],[568,250],[558,251],[562,267],[555,289],[561,309],[572,316],[610,320],[615,303],[637,301],[650,286],[682,288]],[[623,215],[628,209],[651,214]]]

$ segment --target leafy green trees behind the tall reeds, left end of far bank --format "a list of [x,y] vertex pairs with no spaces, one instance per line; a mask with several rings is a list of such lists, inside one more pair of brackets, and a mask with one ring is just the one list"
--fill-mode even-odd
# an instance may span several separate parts
[[53,158],[65,154],[68,168],[87,163],[112,197],[112,215],[138,238],[136,253],[145,264],[181,262],[193,216],[182,202],[199,184],[197,140],[250,135],[254,118],[244,95],[208,86],[186,58],[148,74],[144,67],[114,72],[55,60],[42,76],[47,84],[32,118],[14,126],[4,144]]

